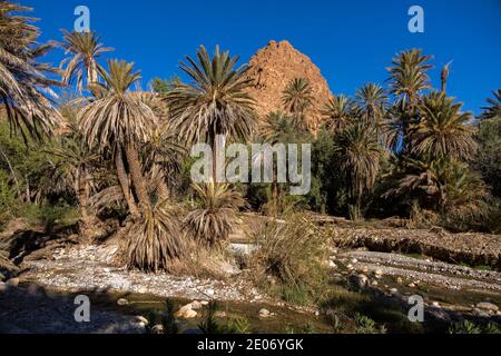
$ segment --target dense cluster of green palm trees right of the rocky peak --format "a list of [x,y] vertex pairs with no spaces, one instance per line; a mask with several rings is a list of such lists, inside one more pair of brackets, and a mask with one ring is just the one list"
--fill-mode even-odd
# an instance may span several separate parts
[[[390,184],[383,197],[419,200],[423,208],[442,212],[461,206],[480,210],[487,197],[469,166],[478,148],[473,116],[445,92],[449,63],[442,70],[442,90],[432,89],[431,59],[418,49],[403,51],[387,69],[389,90],[369,83],[354,99],[334,96],[323,110],[323,129],[333,132],[354,217],[364,201],[377,198],[372,196],[374,186],[384,178]],[[484,115],[492,111],[495,105]]]

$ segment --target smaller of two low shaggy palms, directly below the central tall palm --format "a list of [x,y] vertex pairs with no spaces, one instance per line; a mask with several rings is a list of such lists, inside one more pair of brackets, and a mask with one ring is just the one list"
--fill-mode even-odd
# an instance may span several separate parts
[[242,195],[227,184],[193,185],[198,207],[188,212],[184,228],[196,241],[215,246],[235,229],[237,212],[245,205]]

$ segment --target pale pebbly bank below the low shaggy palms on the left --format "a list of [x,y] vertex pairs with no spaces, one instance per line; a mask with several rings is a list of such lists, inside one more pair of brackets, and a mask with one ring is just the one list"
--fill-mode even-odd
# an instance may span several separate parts
[[60,249],[53,259],[30,261],[22,281],[67,291],[95,290],[149,294],[159,297],[218,300],[263,300],[263,296],[245,278],[216,280],[165,273],[144,274],[114,266],[118,247],[75,246]]

